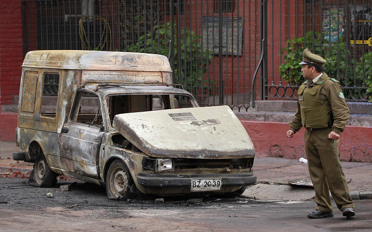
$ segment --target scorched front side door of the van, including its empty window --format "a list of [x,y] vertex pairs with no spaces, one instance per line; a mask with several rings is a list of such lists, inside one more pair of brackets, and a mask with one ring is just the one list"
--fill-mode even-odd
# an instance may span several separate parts
[[99,178],[98,159],[104,132],[102,104],[96,93],[78,91],[64,124],[59,148],[61,166],[68,172]]

